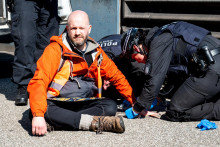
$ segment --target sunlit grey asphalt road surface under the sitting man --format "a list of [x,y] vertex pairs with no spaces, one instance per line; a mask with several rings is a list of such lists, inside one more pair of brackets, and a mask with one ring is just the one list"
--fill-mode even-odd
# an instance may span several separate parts
[[[0,48],[3,45],[0,45]],[[7,48],[11,46],[6,45]],[[7,61],[5,59],[7,59]],[[218,147],[220,129],[200,131],[199,122],[168,122],[146,117],[124,118],[123,134],[88,131],[53,131],[43,137],[32,136],[28,119],[30,106],[15,106],[16,85],[11,81],[13,53],[0,49],[0,147]],[[2,67],[6,67],[4,70]],[[124,115],[124,113],[119,113]],[[220,126],[220,122],[212,121]]]

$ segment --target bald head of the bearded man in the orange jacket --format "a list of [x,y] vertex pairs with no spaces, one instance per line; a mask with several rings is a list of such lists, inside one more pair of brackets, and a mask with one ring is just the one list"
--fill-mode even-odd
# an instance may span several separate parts
[[67,23],[67,32],[70,40],[78,49],[84,50],[92,28],[88,14],[81,10],[73,11],[69,15]]

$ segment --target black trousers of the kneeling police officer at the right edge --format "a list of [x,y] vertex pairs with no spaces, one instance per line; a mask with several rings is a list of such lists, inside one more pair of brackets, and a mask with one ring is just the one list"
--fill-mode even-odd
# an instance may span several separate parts
[[[204,45],[213,49],[220,46],[220,40],[211,36],[200,43],[200,46]],[[168,112],[184,112],[183,121],[220,120],[220,54],[214,59],[215,64],[209,66],[204,77],[189,77],[179,87],[171,99]]]

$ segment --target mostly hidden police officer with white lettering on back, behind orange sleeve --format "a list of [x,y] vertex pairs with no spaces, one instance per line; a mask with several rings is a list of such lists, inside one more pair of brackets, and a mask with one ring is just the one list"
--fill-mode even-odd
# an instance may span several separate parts
[[[138,63],[136,61],[130,61],[128,58],[121,58],[121,36],[121,34],[108,35],[101,38],[98,43],[108,55],[108,57],[115,62],[118,69],[125,75],[126,79],[133,89],[135,97],[138,97],[144,84],[143,78],[145,77],[145,75],[142,70],[144,64]],[[105,81],[102,95],[105,97],[117,99],[118,104],[121,104],[124,100],[124,98],[120,95],[120,93],[115,89],[114,86],[108,85],[105,88]]]

